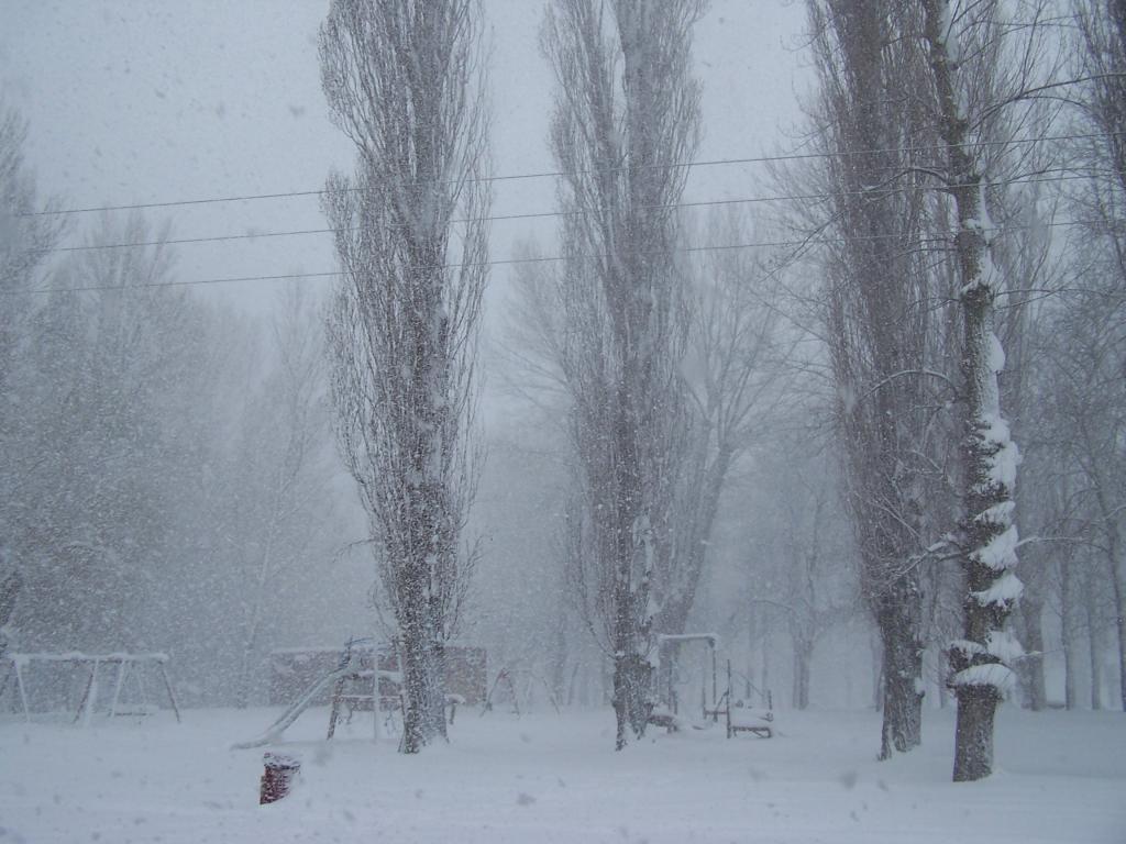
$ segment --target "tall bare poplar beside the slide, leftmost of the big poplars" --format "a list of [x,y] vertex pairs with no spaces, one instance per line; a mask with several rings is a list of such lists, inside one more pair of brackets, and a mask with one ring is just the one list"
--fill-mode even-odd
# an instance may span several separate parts
[[486,275],[479,11],[336,0],[320,37],[325,97],[358,153],[324,203],[345,276],[332,396],[403,656],[406,753],[445,735],[445,643],[475,559],[461,538]]

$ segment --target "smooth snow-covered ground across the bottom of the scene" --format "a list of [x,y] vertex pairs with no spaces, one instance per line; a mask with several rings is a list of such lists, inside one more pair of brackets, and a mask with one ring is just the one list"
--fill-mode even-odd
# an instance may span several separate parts
[[920,752],[874,760],[874,712],[783,712],[774,739],[665,735],[614,753],[609,710],[458,713],[417,757],[369,724],[318,740],[306,713],[283,747],[293,794],[260,807],[261,751],[231,751],[275,710],[161,712],[87,729],[0,722],[0,844],[26,842],[1126,842],[1126,716],[1002,710],[1001,769],[949,782],[953,717]]

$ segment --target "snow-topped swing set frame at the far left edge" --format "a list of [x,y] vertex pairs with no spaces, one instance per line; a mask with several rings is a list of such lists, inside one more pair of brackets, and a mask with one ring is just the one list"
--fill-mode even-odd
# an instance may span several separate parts
[[[110,717],[118,715],[150,715],[151,707],[144,683],[144,676],[148,673],[150,675],[158,675],[168,695],[168,702],[176,713],[176,720],[180,720],[180,708],[176,703],[176,694],[172,692],[172,684],[168,680],[168,670],[166,667],[168,664],[168,654],[82,654],[78,652],[65,654],[7,654],[0,658],[0,664],[5,663],[7,663],[7,670],[3,673],[3,680],[0,681],[0,698],[3,697],[5,691],[8,690],[9,684],[15,679],[16,682],[11,685],[11,694],[18,698],[19,706],[24,712],[24,719],[27,721],[32,720],[32,710],[36,708],[36,701],[34,700],[36,690],[34,689],[34,684],[33,688],[29,688],[27,682],[27,674],[29,672],[35,673],[38,671],[39,673],[45,673],[51,668],[62,668],[68,675],[64,680],[69,680],[70,675],[73,675],[77,671],[87,671],[82,697],[74,711],[74,722],[78,724],[81,721],[86,725],[89,724],[100,697],[99,674],[104,667],[116,668],[114,675],[114,694],[108,707],[108,715]],[[55,685],[59,685],[57,680],[59,677],[55,677]],[[131,681],[133,686],[132,695],[129,695],[127,685]],[[55,691],[57,697],[57,690]],[[126,700],[126,695],[132,697],[133,700]],[[65,701],[69,694],[64,690],[61,697]],[[71,700],[73,699],[71,698]]]

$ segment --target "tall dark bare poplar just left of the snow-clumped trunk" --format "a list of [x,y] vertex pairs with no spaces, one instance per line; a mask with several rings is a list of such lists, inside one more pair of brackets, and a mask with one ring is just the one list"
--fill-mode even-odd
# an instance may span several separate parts
[[941,278],[923,251],[929,129],[922,101],[904,96],[924,77],[904,3],[808,8],[821,82],[813,122],[829,153],[813,178],[830,199],[798,215],[834,235],[823,253],[824,318],[861,591],[882,644],[888,758],[921,740],[920,564],[938,509],[930,482],[941,475],[935,411],[949,395]]

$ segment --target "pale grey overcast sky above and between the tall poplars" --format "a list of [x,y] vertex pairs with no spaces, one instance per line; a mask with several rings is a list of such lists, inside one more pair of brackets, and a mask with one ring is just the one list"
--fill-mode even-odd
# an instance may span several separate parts
[[[539,54],[543,0],[485,0],[492,60],[497,174],[552,170],[546,133],[551,73]],[[324,0],[0,0],[0,91],[29,122],[28,163],[41,192],[65,207],[160,203],[316,190],[351,149],[320,89],[316,32]],[[807,69],[803,7],[781,0],[713,0],[698,24],[704,83],[699,159],[747,158],[790,144],[795,93]],[[688,198],[762,192],[761,165],[694,171]],[[547,212],[551,179],[498,182],[493,213]],[[315,196],[154,208],[173,236],[323,228]],[[115,215],[124,216],[124,215]],[[97,214],[75,216],[80,242]],[[494,259],[555,221],[493,225]],[[547,246],[545,246],[547,248]],[[178,248],[181,279],[334,270],[325,234]],[[486,325],[502,312],[510,268],[492,273]],[[330,279],[303,284],[324,290]],[[200,287],[261,313],[277,282]]]

